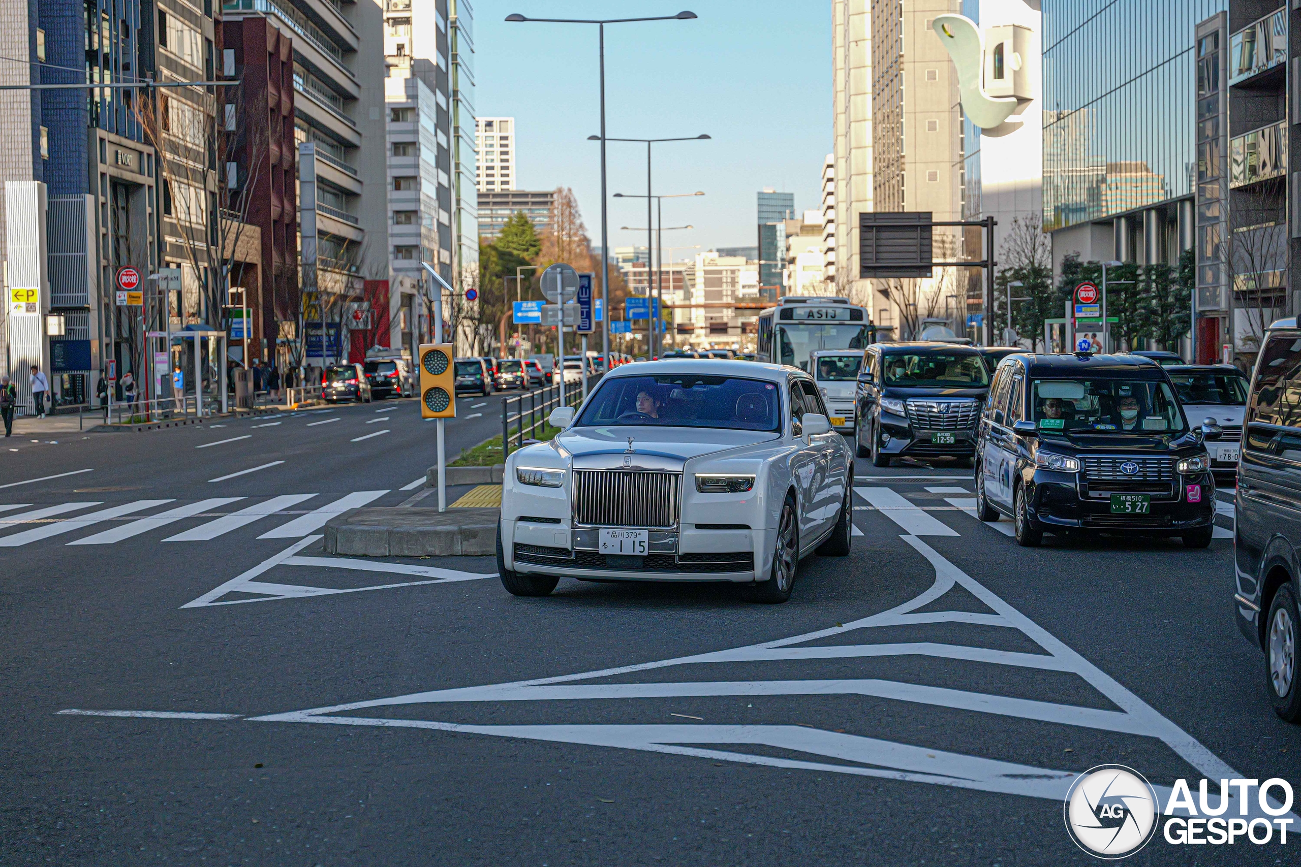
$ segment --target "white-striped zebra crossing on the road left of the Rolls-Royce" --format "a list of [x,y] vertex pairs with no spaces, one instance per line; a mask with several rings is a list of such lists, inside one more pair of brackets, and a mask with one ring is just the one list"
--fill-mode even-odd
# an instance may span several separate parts
[[[298,539],[316,533],[336,515],[373,503],[388,493],[388,489],[351,491],[306,511],[290,510],[308,500],[320,502],[317,498],[329,495],[319,493],[281,494],[232,512],[221,510],[234,503],[243,503],[248,498],[209,497],[163,511],[152,510],[176,503],[176,500],[137,499],[96,511],[86,510],[104,506],[101,500],[75,500],[36,508],[30,508],[31,503],[0,503],[0,547],[22,547],[34,542],[70,536],[77,536],[77,538],[66,542],[61,538],[59,541],[65,545],[117,545],[194,519],[199,519],[200,523],[159,541],[211,542],[250,524],[271,523],[277,517],[289,517],[290,520],[264,529],[256,538]],[[141,512],[151,513],[139,515]],[[99,528],[98,525],[101,524],[111,524],[111,526]],[[98,532],[81,536],[81,532],[86,529]]]

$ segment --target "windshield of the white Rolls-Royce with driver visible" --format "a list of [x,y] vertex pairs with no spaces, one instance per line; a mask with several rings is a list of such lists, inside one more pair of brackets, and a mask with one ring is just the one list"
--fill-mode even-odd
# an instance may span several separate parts
[[778,430],[781,399],[771,382],[696,373],[604,380],[579,425],[667,425]]

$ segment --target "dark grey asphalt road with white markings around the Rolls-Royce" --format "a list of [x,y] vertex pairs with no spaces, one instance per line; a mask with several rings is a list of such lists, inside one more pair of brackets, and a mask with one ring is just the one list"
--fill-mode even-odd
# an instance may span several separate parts
[[783,606],[327,558],[330,510],[418,493],[432,428],[406,400],[0,451],[0,864],[1082,864],[1060,790],[1095,764],[1301,786],[1231,538],[1020,549],[969,471],[860,461],[853,552]]

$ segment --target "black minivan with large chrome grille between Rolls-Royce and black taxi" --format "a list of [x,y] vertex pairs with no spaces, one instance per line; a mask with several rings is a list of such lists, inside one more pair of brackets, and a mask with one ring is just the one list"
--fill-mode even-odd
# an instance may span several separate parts
[[976,454],[989,372],[973,347],[877,343],[865,351],[855,396],[855,447],[873,467],[891,459]]

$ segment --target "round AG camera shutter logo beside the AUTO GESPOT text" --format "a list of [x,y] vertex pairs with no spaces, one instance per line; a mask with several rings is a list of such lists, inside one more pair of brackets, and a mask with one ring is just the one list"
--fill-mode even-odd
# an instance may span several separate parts
[[1159,805],[1147,780],[1123,764],[1089,768],[1071,784],[1063,816],[1075,844],[1097,858],[1127,858],[1157,833]]

